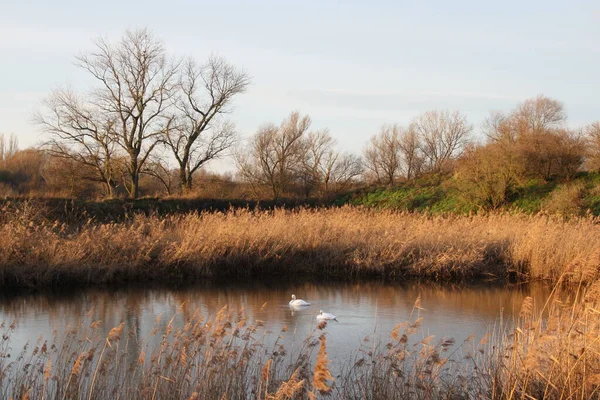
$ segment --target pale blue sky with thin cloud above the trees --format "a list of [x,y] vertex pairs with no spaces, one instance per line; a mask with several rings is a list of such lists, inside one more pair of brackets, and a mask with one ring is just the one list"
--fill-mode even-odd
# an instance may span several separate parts
[[243,137],[293,110],[359,153],[383,124],[491,110],[539,94],[569,125],[600,120],[600,1],[0,0],[0,132],[41,143],[33,113],[53,88],[84,93],[93,40],[147,27],[169,53],[216,53],[251,77],[231,119]]

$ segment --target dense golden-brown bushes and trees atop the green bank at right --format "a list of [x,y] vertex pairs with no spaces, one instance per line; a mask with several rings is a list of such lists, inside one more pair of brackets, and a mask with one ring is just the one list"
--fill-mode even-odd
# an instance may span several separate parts
[[544,96],[508,114],[492,113],[484,124],[488,142],[469,149],[457,164],[460,190],[473,204],[496,209],[527,179],[572,180],[586,156],[593,164],[594,131],[566,129],[566,118],[562,103]]

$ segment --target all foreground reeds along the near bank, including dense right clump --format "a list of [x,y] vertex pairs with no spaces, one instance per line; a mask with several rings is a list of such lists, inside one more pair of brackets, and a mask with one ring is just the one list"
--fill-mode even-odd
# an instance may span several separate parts
[[[268,340],[244,310],[204,320],[156,320],[149,338],[123,323],[108,333],[82,320],[32,348],[9,350],[0,331],[0,396],[15,399],[591,399],[600,394],[600,286],[568,297],[526,298],[516,326],[455,344],[425,337],[418,313],[351,362],[327,355],[322,323],[295,349]],[[546,301],[545,317],[534,301]],[[418,299],[415,303],[418,309]],[[427,318],[425,315],[424,318]],[[270,344],[269,344],[270,343]],[[12,353],[9,357],[8,354]]]

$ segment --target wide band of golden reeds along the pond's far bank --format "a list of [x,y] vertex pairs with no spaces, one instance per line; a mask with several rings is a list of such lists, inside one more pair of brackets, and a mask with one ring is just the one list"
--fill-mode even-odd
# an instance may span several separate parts
[[34,209],[0,224],[0,286],[261,275],[591,282],[592,218],[426,216],[352,207],[135,215],[65,224]]

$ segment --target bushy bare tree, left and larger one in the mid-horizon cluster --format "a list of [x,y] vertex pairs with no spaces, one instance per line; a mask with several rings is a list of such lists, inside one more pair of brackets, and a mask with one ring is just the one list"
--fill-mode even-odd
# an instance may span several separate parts
[[310,123],[309,116],[292,112],[279,126],[261,127],[251,139],[249,151],[236,156],[242,178],[255,188],[269,187],[275,200],[285,194],[302,170],[306,152],[303,138]]

